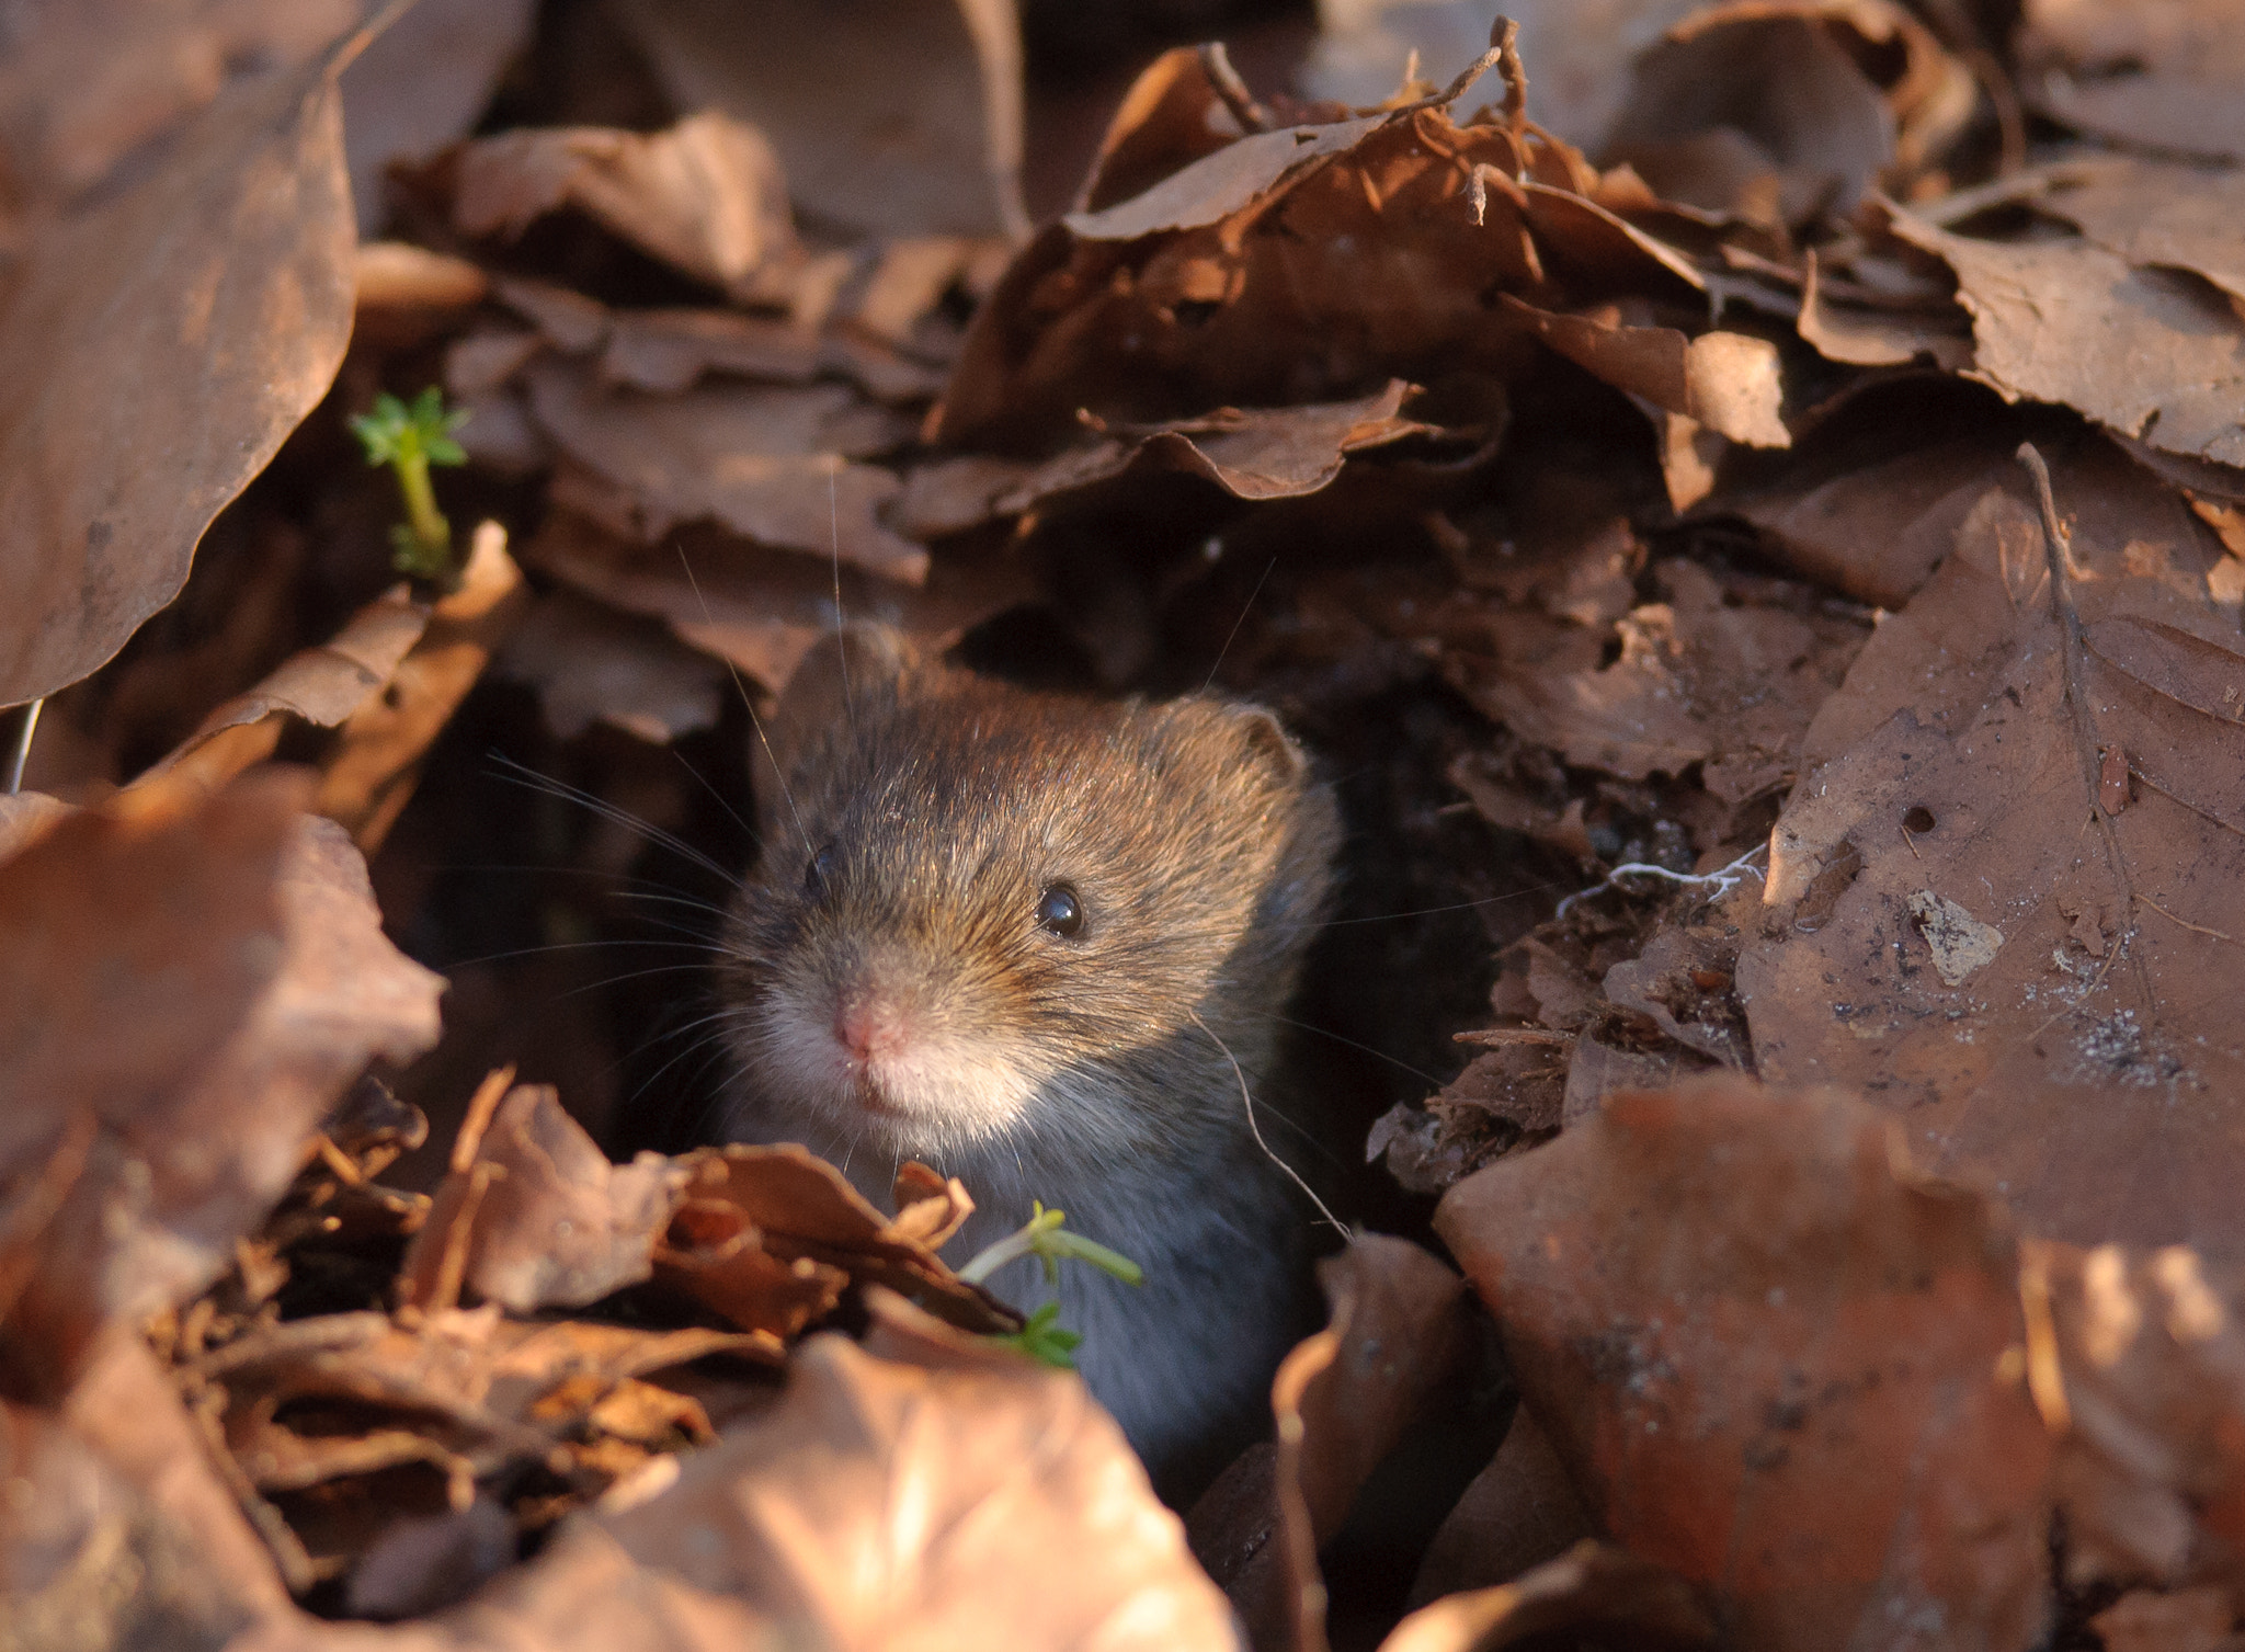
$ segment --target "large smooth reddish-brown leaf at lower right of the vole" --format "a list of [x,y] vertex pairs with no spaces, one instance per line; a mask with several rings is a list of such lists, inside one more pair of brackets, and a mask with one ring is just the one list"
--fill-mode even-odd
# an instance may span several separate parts
[[1879,1113],[1744,1077],[1612,1095],[1435,1228],[1598,1529],[1729,1643],[2032,1643],[2052,1448],[1998,1374],[2014,1250]]

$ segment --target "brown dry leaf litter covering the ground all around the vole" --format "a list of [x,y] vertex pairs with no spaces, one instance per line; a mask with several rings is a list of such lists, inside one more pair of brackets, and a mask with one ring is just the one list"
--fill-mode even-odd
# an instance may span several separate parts
[[[175,11],[0,52],[11,1636],[2236,1639],[2229,9],[1331,16],[1035,229],[1008,7]],[[974,1187],[698,1145],[844,620],[1345,774],[1367,1228],[1188,1520]]]

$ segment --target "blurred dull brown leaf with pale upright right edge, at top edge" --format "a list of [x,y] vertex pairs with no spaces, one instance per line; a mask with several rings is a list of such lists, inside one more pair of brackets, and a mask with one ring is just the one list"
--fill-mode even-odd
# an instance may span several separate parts
[[992,0],[642,0],[617,22],[678,108],[763,130],[795,200],[867,236],[1021,236],[1021,38]]

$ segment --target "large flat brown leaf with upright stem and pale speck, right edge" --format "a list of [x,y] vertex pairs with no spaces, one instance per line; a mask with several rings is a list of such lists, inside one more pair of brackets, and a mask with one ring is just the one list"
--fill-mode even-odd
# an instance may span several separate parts
[[1767,1077],[1913,1109],[1924,1163],[2032,1230],[2236,1257],[2238,581],[2101,442],[2056,489],[2061,588],[2025,489],[1989,489],[1809,729],[1738,992]]

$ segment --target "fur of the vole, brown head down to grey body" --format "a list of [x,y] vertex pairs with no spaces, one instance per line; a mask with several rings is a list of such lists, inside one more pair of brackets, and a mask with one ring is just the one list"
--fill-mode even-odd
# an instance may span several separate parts
[[[878,1203],[902,1158],[961,1176],[961,1257],[1044,1201],[1143,1264],[1143,1288],[1071,1264],[1060,1302],[1156,1468],[1264,1414],[1311,1214],[1241,1075],[1300,1158],[1264,1084],[1331,887],[1331,792],[1257,707],[1030,694],[876,628],[824,644],[770,734],[759,880],[725,934],[730,1134],[806,1142]],[[1075,934],[1039,925],[1051,889]],[[1035,1264],[990,1284],[1048,1295]]]

